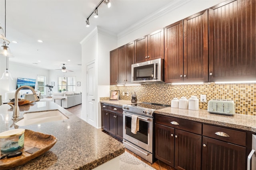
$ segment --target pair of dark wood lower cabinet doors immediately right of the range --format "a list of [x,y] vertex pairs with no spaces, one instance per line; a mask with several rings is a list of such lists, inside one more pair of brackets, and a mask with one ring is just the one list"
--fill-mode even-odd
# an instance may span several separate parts
[[155,157],[177,170],[201,169],[202,136],[155,123]]

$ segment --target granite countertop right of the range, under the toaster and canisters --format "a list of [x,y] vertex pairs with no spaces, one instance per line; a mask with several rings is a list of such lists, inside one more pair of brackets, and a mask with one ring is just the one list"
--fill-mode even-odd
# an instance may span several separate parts
[[159,109],[156,110],[154,113],[172,117],[179,117],[183,119],[189,119],[193,121],[199,121],[202,123],[210,123],[213,125],[232,127],[256,133],[256,116],[252,115],[219,115],[209,113],[207,110],[188,110],[173,107]]

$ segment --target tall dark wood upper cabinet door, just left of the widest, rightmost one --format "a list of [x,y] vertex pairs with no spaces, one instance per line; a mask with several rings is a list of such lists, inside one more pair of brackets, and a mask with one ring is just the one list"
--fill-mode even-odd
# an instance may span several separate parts
[[184,82],[208,82],[208,10],[184,20]]

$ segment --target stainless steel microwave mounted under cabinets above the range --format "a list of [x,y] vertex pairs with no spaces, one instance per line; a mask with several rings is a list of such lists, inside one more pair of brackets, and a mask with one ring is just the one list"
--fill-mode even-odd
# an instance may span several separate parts
[[155,59],[132,64],[133,83],[162,83],[163,59]]

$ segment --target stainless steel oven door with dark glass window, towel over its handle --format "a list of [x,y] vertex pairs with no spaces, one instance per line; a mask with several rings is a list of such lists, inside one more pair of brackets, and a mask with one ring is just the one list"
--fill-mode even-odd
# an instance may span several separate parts
[[[136,134],[131,132],[132,114],[124,111],[124,139],[141,147],[148,152],[153,152],[153,118],[138,115],[140,129]],[[136,114],[134,114],[136,115]]]

